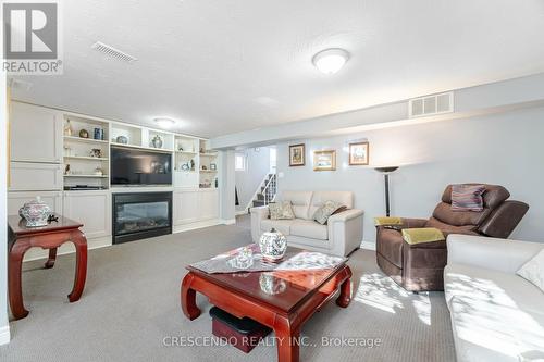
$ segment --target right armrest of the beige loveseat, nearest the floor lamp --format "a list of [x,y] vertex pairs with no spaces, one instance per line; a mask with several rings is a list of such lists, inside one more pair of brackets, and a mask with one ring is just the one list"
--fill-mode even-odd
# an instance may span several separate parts
[[346,210],[327,220],[329,252],[346,257],[361,246],[362,210]]

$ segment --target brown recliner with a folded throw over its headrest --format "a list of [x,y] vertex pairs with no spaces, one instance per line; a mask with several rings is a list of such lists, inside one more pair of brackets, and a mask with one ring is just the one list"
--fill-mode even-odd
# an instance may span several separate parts
[[400,219],[400,224],[378,225],[378,265],[407,290],[444,290],[446,241],[410,245],[404,240],[401,229],[434,227],[442,230],[445,237],[448,234],[468,234],[507,238],[529,210],[529,205],[520,201],[507,201],[510,192],[503,186],[484,186],[484,209],[481,212],[452,211],[449,185],[431,219]]

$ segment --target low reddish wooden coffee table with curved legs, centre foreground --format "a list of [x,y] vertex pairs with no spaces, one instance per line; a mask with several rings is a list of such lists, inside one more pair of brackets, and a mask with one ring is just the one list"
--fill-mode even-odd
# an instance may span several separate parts
[[[302,250],[289,248],[286,258]],[[351,270],[345,263],[326,270],[297,270],[208,274],[188,266],[181,287],[182,310],[189,319],[200,315],[196,292],[237,317],[250,317],[275,332],[277,360],[298,361],[302,324],[339,288],[336,304],[351,300]]]

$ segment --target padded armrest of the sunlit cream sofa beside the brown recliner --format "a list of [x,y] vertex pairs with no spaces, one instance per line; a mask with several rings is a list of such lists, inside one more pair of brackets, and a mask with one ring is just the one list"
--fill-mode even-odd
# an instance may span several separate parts
[[468,264],[515,274],[544,249],[544,244],[452,234],[447,237],[447,263]]

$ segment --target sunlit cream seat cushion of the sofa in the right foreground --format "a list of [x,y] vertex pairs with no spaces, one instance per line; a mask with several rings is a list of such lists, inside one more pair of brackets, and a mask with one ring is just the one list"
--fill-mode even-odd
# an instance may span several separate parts
[[544,357],[544,294],[523,278],[465,264],[444,270],[458,361]]

